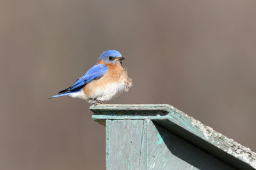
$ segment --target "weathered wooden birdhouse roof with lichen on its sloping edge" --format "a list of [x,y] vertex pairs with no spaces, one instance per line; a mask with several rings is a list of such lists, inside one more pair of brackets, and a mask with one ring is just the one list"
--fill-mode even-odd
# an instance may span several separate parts
[[93,120],[150,119],[237,169],[256,169],[256,153],[168,104],[92,105]]

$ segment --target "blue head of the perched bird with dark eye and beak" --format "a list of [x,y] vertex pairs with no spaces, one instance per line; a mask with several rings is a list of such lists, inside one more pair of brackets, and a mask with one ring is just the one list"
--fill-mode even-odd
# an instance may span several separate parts
[[121,60],[124,60],[124,57],[122,57],[120,52],[116,50],[108,50],[100,55],[98,63],[102,61],[104,63],[116,64],[116,62],[120,62]]

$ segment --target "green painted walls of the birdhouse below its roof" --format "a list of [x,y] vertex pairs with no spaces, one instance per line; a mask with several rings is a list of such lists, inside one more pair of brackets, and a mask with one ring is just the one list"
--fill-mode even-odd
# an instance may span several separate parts
[[151,120],[106,120],[107,169],[227,169],[228,166]]

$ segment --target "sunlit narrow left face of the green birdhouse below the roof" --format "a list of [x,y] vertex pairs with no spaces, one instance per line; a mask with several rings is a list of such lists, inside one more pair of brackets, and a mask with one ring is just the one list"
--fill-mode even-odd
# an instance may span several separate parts
[[147,169],[146,120],[106,121],[106,167]]

